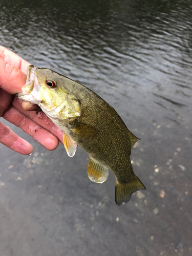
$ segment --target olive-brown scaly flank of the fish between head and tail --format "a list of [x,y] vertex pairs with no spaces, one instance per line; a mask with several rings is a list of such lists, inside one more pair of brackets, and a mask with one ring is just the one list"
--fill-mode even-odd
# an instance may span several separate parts
[[[117,169],[116,176],[118,177],[119,168],[128,172],[127,167],[129,168],[130,166],[131,142],[127,136],[127,128],[108,103],[92,91],[85,91],[81,87],[79,84],[74,90],[74,94],[78,95],[80,99],[83,113],[79,121],[90,125],[94,129],[90,136],[90,132],[87,133],[84,130],[86,127],[81,129],[81,125],[77,123],[73,128],[74,134],[71,133],[70,136],[90,156],[101,161],[113,172]],[[93,113],[92,118],[90,118],[90,112]],[[97,118],[94,118],[95,116]],[[87,128],[92,130],[90,127]],[[89,141],[87,140],[87,135],[89,135]],[[96,144],[97,146],[95,146]],[[102,155],[100,154],[101,152]],[[109,152],[111,152],[110,155]],[[126,175],[126,177],[129,179],[129,176]]]

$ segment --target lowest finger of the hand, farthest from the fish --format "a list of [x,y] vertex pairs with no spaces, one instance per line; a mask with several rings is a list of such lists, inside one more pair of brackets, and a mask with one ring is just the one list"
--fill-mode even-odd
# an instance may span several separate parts
[[18,152],[19,154],[29,155],[33,151],[32,145],[26,140],[13,133],[10,128],[0,122],[0,142],[5,146]]

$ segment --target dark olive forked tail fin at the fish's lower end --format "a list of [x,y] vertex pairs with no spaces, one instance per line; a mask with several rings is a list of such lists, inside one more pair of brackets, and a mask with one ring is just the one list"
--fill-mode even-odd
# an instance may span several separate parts
[[131,195],[139,190],[146,189],[146,187],[142,184],[140,179],[135,176],[135,179],[130,183],[119,183],[116,180],[115,185],[115,202],[117,205],[121,205],[123,203],[127,203],[131,199]]

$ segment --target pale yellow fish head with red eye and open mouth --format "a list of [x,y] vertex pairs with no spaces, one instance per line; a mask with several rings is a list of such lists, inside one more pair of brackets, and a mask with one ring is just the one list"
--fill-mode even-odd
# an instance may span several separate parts
[[68,80],[50,69],[30,65],[27,68],[26,84],[22,92],[15,96],[39,105],[50,118],[75,118],[80,116],[80,101],[65,86]]

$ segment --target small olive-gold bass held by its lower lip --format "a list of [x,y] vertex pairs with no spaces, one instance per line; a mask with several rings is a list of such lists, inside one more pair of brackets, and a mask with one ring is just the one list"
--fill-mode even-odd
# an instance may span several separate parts
[[47,68],[27,68],[27,80],[17,98],[37,104],[63,132],[70,157],[77,145],[89,154],[88,177],[103,183],[109,170],[116,177],[115,202],[127,203],[146,189],[134,174],[131,150],[138,141],[117,112],[82,84]]

